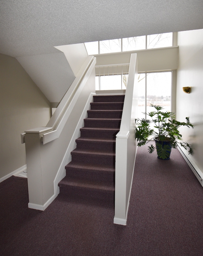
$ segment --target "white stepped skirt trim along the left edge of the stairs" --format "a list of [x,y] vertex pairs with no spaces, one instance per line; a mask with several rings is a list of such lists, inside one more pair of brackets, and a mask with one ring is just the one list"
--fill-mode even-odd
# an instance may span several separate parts
[[67,148],[65,155],[62,159],[62,163],[61,163],[61,165],[58,169],[58,172],[56,174],[56,178],[54,180],[54,193],[57,195],[59,194],[58,183],[66,176],[65,166],[71,161],[70,152],[76,148],[75,140],[80,137],[80,128],[84,126],[84,118],[87,118],[87,111],[90,109],[90,102],[93,102],[93,95],[96,95],[96,94],[90,93],[90,95],[88,97],[87,103],[85,104],[84,110],[82,111],[81,117],[78,121],[78,124],[75,128],[75,131],[70,140],[68,148]]

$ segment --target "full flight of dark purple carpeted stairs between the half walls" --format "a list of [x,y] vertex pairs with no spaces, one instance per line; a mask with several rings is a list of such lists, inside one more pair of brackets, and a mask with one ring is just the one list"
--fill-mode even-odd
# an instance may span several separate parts
[[121,125],[124,95],[93,96],[76,139],[66,177],[59,182],[67,200],[114,207],[115,135]]

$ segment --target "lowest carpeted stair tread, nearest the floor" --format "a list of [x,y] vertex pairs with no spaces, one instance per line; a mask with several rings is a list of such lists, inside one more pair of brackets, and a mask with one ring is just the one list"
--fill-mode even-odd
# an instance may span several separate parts
[[112,182],[109,183],[104,183],[104,182],[95,182],[92,180],[87,180],[87,179],[76,179],[72,177],[67,177],[67,179],[62,179],[60,181],[60,186],[61,185],[69,185],[69,186],[75,186],[75,187],[81,187],[81,188],[90,188],[90,189],[95,189],[95,190],[108,190],[108,191],[114,191],[114,185]]

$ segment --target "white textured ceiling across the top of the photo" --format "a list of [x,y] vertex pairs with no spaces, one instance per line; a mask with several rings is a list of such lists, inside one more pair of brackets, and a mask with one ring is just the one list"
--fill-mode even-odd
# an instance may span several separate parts
[[0,53],[203,28],[202,0],[1,0]]

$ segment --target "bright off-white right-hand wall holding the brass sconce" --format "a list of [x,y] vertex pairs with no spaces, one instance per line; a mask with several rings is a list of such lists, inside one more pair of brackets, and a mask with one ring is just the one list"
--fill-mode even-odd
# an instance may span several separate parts
[[[195,126],[181,131],[183,139],[193,145],[192,160],[203,172],[203,30],[178,32],[178,45],[177,120],[185,121],[189,117]],[[183,92],[185,86],[192,86],[190,94]]]

